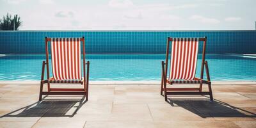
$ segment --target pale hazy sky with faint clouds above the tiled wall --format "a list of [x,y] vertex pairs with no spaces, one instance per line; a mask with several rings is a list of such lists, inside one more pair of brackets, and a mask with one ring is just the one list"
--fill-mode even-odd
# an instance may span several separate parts
[[0,0],[20,30],[255,30],[256,0]]

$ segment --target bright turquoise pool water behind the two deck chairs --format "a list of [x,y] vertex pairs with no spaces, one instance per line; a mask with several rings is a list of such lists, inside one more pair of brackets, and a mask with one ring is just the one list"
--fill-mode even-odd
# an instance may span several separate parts
[[[196,76],[200,75],[198,56]],[[164,54],[90,54],[92,81],[161,80]],[[1,54],[0,81],[39,80],[44,54]],[[211,79],[214,81],[255,81],[256,56],[243,54],[207,54]],[[51,66],[50,66],[51,67]]]

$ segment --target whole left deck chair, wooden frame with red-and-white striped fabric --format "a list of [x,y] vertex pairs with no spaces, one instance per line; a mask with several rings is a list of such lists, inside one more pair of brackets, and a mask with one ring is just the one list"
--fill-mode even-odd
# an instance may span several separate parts
[[[49,49],[51,45],[52,76],[49,72]],[[83,42],[83,78],[81,76],[81,42]],[[83,38],[47,38],[45,37],[46,62],[43,61],[39,100],[42,95],[84,95],[88,100],[89,65],[85,62],[85,46]],[[44,79],[45,65],[47,79]],[[87,65],[87,72],[85,66]],[[85,75],[86,72],[86,75]],[[43,86],[47,83],[47,92]],[[51,88],[51,83],[76,83],[83,88]]]

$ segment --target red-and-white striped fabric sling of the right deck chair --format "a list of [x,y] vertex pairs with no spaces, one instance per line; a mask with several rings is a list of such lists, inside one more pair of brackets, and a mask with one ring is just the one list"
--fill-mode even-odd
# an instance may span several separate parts
[[198,42],[198,38],[173,38],[169,79],[195,79]]

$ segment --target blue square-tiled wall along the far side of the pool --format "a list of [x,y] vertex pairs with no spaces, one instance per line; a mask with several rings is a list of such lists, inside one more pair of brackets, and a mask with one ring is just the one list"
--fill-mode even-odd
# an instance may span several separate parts
[[[163,54],[166,38],[207,36],[207,53],[256,53],[256,31],[0,31],[0,53],[42,54],[44,38],[81,37],[90,54]],[[200,45],[202,47],[202,45]],[[199,51],[202,52],[202,51]]]

